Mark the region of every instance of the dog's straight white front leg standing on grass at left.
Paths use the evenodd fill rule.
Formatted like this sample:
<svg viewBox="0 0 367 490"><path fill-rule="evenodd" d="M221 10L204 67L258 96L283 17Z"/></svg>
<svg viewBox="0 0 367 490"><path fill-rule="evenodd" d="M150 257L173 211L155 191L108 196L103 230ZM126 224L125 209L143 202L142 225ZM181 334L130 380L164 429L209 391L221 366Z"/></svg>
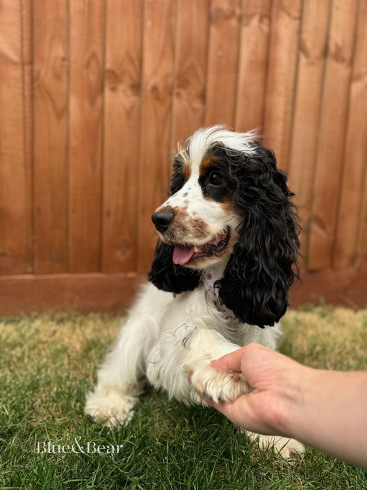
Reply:
<svg viewBox="0 0 367 490"><path fill-rule="evenodd" d="M94 391L87 394L85 414L105 425L129 422L145 385L147 357L158 339L162 312L171 300L171 294L150 283L143 287L116 345L98 370Z"/></svg>

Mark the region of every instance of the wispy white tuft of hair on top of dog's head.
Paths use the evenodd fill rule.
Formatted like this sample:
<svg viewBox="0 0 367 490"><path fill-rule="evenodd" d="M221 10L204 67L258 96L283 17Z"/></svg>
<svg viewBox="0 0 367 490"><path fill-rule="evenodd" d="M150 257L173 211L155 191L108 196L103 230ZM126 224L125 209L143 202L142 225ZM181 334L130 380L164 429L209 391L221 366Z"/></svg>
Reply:
<svg viewBox="0 0 367 490"><path fill-rule="evenodd" d="M256 149L253 145L255 136L255 131L237 133L221 125L203 127L196 131L185 144L185 150L189 154L191 163L191 173L198 174L200 163L204 159L208 148L215 143L222 143L229 150L245 152L249 156L255 155Z"/></svg>

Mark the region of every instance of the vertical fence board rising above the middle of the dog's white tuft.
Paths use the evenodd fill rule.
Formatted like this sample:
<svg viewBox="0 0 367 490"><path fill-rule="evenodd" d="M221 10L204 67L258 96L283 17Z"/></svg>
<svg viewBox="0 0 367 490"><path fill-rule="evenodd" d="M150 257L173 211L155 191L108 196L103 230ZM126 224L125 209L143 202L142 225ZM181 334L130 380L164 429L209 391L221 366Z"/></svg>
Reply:
<svg viewBox="0 0 367 490"><path fill-rule="evenodd" d="M205 125L234 125L240 0L211 0Z"/></svg>

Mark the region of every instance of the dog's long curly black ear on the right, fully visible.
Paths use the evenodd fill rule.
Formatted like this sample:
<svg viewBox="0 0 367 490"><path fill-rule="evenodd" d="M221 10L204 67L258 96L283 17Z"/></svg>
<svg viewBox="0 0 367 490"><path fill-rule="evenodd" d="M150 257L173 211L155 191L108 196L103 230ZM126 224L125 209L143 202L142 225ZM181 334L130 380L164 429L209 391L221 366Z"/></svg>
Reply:
<svg viewBox="0 0 367 490"><path fill-rule="evenodd" d="M288 307L288 290L298 276L300 227L273 152L257 143L254 157L236 158L233 204L243 213L239 241L224 276L220 299L250 325L274 325Z"/></svg>

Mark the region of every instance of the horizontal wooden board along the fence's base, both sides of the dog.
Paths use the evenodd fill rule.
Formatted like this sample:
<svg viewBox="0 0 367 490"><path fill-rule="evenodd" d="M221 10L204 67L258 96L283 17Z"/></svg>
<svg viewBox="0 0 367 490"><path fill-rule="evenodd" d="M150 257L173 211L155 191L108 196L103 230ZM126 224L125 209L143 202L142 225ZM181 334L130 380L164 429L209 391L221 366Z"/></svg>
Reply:
<svg viewBox="0 0 367 490"><path fill-rule="evenodd" d="M320 301L353 308L366 305L366 258L359 267L302 270L301 276L302 281L291 287L292 307ZM121 313L132 305L145 281L145 274L135 272L0 276L0 316L52 311Z"/></svg>

